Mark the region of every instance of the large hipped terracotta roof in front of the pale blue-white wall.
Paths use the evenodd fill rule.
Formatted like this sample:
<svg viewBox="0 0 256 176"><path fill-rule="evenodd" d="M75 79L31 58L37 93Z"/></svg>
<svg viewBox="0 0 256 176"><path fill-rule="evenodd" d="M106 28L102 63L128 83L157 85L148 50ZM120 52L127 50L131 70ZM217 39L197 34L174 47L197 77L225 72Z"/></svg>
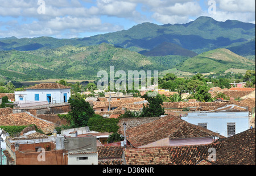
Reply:
<svg viewBox="0 0 256 176"><path fill-rule="evenodd" d="M165 116L159 120L152 121L151 123L127 129L126 136L127 140L134 147L147 145L167 137L170 139L210 136L225 138L224 136L218 135L208 129L190 124L187 121L172 115Z"/></svg>

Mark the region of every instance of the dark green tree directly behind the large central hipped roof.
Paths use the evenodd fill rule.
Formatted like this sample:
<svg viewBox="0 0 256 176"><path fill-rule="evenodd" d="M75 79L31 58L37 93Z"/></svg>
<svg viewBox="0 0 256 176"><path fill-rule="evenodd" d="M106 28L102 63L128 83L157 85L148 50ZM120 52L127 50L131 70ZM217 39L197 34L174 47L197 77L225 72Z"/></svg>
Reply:
<svg viewBox="0 0 256 176"><path fill-rule="evenodd" d="M151 91L148 91L151 92ZM157 94L156 97L148 97L148 92L142 96L142 98L146 99L148 104L142 108L142 117L158 117L160 115L164 115L163 99L160 94Z"/></svg>

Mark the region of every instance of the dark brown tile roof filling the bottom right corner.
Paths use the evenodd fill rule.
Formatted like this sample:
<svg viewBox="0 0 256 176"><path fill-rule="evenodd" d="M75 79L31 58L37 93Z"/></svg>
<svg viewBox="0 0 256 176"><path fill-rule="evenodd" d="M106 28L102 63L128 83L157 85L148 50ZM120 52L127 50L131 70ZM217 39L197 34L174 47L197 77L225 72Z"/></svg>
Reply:
<svg viewBox="0 0 256 176"><path fill-rule="evenodd" d="M217 165L255 165L255 129L247 129L222 141L216 152Z"/></svg>

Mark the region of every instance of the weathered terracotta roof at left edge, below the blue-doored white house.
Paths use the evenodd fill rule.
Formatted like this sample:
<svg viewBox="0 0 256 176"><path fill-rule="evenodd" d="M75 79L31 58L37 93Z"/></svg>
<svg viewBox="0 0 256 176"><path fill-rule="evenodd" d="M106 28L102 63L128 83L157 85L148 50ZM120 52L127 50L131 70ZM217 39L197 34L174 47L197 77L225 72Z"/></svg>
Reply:
<svg viewBox="0 0 256 176"><path fill-rule="evenodd" d="M36 127L42 129L46 134L52 133L55 128L54 123L47 122L39 118L35 118L32 115L27 114L26 112L17 113L17 114L8 114L0 116L0 125L31 125L35 124Z"/></svg>

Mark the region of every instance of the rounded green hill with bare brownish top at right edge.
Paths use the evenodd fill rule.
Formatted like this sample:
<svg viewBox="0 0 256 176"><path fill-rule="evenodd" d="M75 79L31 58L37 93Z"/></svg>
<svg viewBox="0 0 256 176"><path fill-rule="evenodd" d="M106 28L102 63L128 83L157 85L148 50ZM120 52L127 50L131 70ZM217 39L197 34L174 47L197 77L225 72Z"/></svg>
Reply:
<svg viewBox="0 0 256 176"><path fill-rule="evenodd" d="M217 73L230 68L255 70L255 61L236 55L225 48L214 49L188 58L177 66L184 72Z"/></svg>

